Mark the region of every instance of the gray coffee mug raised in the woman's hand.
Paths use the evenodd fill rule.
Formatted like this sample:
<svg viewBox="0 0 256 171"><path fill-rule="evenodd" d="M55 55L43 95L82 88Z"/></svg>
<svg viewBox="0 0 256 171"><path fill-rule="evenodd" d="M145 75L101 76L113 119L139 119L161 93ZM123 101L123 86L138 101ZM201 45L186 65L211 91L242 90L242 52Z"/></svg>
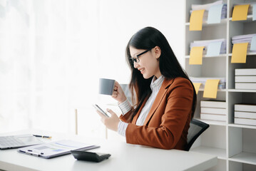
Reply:
<svg viewBox="0 0 256 171"><path fill-rule="evenodd" d="M100 78L98 93L104 95L112 95L115 86L115 80Z"/></svg>

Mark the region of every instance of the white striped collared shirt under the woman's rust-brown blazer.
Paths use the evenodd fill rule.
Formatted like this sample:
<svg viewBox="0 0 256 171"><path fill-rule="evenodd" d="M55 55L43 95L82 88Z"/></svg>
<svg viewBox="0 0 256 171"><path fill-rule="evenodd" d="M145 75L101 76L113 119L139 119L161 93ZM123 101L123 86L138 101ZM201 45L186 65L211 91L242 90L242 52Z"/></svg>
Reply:
<svg viewBox="0 0 256 171"><path fill-rule="evenodd" d="M152 107L152 105L155 101L156 95L158 95L158 92L160 90L160 87L162 86L164 79L165 78L163 76L160 76L158 79L155 79L155 77L152 79L151 84L150 84L152 93L151 93L150 97L148 98L147 102L145 103L143 109L141 110L138 120L136 121L136 125L143 125L143 123L145 122L145 118L147 118L147 116L148 116L150 108ZM132 108L127 99L126 99L126 101L119 104L118 106L122 110L122 115L125 115L126 113L128 113L128 111L130 111L130 108ZM124 123L124 122L120 121L118 123L118 133L120 135L126 136L127 126L128 126L128 123Z"/></svg>

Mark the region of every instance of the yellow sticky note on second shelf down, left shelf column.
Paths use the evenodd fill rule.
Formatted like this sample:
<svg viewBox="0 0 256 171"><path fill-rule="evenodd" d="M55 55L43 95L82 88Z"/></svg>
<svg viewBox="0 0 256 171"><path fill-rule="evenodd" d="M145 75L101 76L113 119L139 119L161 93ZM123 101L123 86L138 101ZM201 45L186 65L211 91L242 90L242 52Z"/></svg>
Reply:
<svg viewBox="0 0 256 171"><path fill-rule="evenodd" d="M190 65L202 65L204 46L196 46L191 48L190 51Z"/></svg>

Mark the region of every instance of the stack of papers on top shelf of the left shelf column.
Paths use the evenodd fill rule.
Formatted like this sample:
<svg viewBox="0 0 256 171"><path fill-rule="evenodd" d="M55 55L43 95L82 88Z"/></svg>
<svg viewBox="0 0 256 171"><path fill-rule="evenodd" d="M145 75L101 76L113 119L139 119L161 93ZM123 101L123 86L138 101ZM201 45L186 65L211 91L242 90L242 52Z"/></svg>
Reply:
<svg viewBox="0 0 256 171"><path fill-rule="evenodd" d="M192 13L192 11L196 11L196 10L201 10L201 9L205 9L205 12L203 14L203 21L208 21L208 12L209 9L212 6L216 6L216 5L220 5L223 4L223 1L215 1L213 3L210 4L192 4L191 6L191 11L190 14ZM221 19L226 19L227 18L227 4L223 4L222 6L222 11L221 11Z"/></svg>

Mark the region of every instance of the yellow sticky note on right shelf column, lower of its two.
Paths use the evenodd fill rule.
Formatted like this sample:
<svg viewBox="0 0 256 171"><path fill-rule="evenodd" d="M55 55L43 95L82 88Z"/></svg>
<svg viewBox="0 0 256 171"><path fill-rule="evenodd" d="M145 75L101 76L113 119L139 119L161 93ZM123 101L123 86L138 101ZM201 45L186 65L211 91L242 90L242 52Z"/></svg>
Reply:
<svg viewBox="0 0 256 171"><path fill-rule="evenodd" d="M232 49L231 63L246 63L248 43L235 43Z"/></svg>

